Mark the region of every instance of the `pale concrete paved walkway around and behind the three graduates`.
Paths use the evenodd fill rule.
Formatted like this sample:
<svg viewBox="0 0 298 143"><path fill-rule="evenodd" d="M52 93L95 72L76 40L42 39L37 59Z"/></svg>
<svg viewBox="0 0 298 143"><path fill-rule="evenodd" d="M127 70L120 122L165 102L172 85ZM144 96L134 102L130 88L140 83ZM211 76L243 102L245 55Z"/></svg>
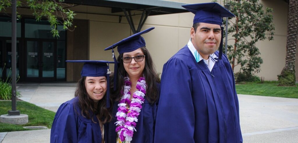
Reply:
<svg viewBox="0 0 298 143"><path fill-rule="evenodd" d="M18 84L21 100L56 112L76 83ZM244 142L298 142L298 99L238 95ZM50 129L0 133L2 143L49 142Z"/></svg>

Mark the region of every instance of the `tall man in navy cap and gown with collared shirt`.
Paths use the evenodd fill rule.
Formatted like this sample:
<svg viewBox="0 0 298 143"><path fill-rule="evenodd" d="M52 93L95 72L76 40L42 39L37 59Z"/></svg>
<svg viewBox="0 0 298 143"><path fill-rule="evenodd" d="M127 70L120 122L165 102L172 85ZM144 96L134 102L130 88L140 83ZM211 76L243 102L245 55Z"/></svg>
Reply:
<svg viewBox="0 0 298 143"><path fill-rule="evenodd" d="M242 142L234 75L222 54L222 17L234 15L217 3L182 7L195 14L191 38L164 64L154 142Z"/></svg>

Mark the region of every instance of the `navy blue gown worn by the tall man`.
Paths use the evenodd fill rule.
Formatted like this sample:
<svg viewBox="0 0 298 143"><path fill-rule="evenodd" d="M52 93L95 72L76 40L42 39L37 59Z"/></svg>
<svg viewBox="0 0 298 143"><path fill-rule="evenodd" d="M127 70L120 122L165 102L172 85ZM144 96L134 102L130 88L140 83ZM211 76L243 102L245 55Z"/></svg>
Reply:
<svg viewBox="0 0 298 143"><path fill-rule="evenodd" d="M233 71L216 60L210 72L186 45L164 64L155 143L242 142Z"/></svg>

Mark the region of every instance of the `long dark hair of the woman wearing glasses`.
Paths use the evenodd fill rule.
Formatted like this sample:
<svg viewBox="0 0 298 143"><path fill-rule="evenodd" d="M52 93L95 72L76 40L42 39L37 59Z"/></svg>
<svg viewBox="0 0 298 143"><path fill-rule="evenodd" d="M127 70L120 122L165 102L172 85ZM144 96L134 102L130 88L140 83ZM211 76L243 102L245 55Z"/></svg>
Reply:
<svg viewBox="0 0 298 143"><path fill-rule="evenodd" d="M145 68L143 71L143 74L145 76L146 79L146 99L148 100L148 102L150 102L151 104L153 104L154 102L156 102L156 100L159 98L157 97L159 95L159 91L158 88L156 86L156 83L160 83L160 79L158 77L158 74L155 70L155 66L153 64L153 60L151 55L149 54L148 50L145 47L141 47L142 52L145 55ZM121 90L123 89L123 85L124 85L124 79L123 77L127 75L127 72L124 69L123 66L123 61L122 61L122 56L123 53L120 54L117 58L117 61L119 61L118 64L118 83L117 83L117 90L112 92L112 98L114 101L119 101L121 98ZM111 76L111 79L113 79L114 76ZM114 81L114 80L111 80ZM113 88L113 83L110 84Z"/></svg>

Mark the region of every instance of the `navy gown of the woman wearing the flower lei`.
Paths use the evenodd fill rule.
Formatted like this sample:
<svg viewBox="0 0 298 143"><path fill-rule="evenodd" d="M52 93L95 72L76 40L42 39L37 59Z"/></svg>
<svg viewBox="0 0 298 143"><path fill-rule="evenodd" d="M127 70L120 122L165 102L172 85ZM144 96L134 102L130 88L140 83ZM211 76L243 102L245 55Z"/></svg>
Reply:
<svg viewBox="0 0 298 143"><path fill-rule="evenodd" d="M156 83L156 86L159 91L160 84ZM157 97L159 97L159 94ZM109 143L116 143L117 139L116 124L114 123L117 121L115 116L118 109L118 103L119 102L114 102L113 105L112 116L114 118L109 124ZM138 122L136 122L136 131L134 131L131 143L153 143L157 106L158 102L150 104L145 98L141 112L138 116Z"/></svg>

